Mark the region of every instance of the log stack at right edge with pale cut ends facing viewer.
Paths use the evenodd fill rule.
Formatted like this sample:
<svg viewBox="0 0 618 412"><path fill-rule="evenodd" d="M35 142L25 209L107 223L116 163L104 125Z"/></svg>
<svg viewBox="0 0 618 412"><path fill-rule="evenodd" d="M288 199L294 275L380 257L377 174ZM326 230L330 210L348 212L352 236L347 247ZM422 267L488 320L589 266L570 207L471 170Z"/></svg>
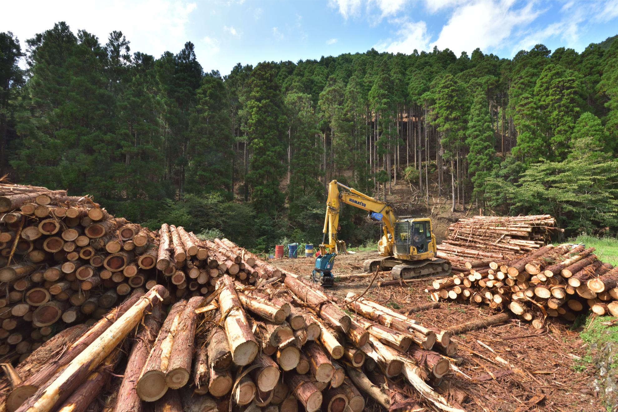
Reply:
<svg viewBox="0 0 618 412"><path fill-rule="evenodd" d="M542 327L546 317L574 321L577 313L618 316L618 268L601 262L595 248L547 245L515 259L468 259L466 272L434 280L433 300L462 300L509 308Z"/></svg>

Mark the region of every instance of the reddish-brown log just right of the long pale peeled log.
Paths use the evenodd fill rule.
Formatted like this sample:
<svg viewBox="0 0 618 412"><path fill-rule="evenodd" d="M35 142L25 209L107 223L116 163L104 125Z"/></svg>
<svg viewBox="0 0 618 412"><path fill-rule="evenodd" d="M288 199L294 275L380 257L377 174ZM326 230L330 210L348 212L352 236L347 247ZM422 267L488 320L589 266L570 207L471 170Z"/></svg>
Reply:
<svg viewBox="0 0 618 412"><path fill-rule="evenodd" d="M122 377L122 384L118 389L117 401L114 412L140 412L142 411L142 400L137 394L137 380L140 377L142 368L150 354L155 339L161 327L161 317L163 311L161 303L153 307L150 314L144 319L142 329L135 336L133 347L127 359L127 367Z"/></svg>

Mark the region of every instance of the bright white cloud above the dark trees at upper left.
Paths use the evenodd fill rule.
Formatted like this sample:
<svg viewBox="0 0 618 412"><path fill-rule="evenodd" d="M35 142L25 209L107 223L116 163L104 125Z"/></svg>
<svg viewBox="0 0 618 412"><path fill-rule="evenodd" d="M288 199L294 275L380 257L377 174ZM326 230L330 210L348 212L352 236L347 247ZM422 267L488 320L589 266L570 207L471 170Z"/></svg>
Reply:
<svg viewBox="0 0 618 412"><path fill-rule="evenodd" d="M36 12L23 14L23 4L6 2L2 5L0 27L19 37L22 49L25 40L36 33L65 21L74 33L84 29L107 43L112 30L120 30L131 42L131 51L161 56L164 51L176 53L190 40L189 17L197 3L177 0L69 0L62 2L33 0L28 9ZM119 12L122 11L122 12ZM19 16L19 17L15 17Z"/></svg>

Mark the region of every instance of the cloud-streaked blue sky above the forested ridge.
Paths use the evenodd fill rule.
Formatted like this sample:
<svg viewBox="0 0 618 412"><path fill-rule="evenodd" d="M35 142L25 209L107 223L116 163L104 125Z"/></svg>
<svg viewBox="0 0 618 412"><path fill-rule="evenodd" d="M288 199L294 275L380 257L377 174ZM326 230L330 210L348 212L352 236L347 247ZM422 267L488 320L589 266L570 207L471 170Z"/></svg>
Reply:
<svg viewBox="0 0 618 412"><path fill-rule="evenodd" d="M319 59L341 53L479 47L512 57L543 43L582 51L618 34L618 1L177 1L7 2L0 30L22 41L65 20L105 43L121 30L132 51L158 57L195 43L205 70L227 74L237 63ZM14 9L14 10L12 10Z"/></svg>

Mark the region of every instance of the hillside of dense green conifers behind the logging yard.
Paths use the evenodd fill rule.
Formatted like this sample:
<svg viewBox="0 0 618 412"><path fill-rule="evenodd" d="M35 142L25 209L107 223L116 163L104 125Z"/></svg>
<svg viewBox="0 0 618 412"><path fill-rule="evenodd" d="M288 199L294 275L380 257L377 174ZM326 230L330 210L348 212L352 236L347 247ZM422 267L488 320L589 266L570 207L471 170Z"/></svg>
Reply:
<svg viewBox="0 0 618 412"><path fill-rule="evenodd" d="M256 250L315 243L326 182L387 198L407 180L426 203L436 182L452 209L618 229L618 40L512 59L371 49L224 75L190 42L155 57L63 22L20 40L0 33L0 174L131 221ZM362 242L371 230L348 217L346 240Z"/></svg>

